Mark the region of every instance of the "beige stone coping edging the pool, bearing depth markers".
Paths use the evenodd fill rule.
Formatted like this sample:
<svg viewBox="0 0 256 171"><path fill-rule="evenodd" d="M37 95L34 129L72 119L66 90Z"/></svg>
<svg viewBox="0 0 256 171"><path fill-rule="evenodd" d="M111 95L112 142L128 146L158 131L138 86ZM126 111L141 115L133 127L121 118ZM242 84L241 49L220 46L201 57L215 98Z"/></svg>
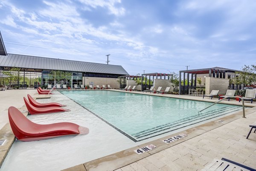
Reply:
<svg viewBox="0 0 256 171"><path fill-rule="evenodd" d="M131 92L126 92L126 93L131 93ZM138 94L141 94L141 93L138 93ZM150 95L150 94L147 94L147 95ZM151 94L151 96L156 96L156 95ZM163 97L163 96L161 96L161 97ZM164 96L164 97L167 97L167 96ZM176 99L181 99L181 98L176 97ZM186 99L186 98L183 98L183 99ZM186 100L190 100L190 99L186 99ZM215 102L215 101L209 101L209 100L197 100L197 101L205 101L205 102L212 102L212 103ZM227 104L227 102L224 101L224 103L221 103L221 104ZM239 104L232 104L232 105L239 105ZM239 105L239 106L241 106L241 105ZM246 105L245 104L245 106L251 107L251 108L245 109L245 111L246 111L245 115L246 116L255 112L255 110L256 110L255 105ZM156 139L156 140L153 140L151 142L144 143L142 145L137 145L135 147L128 148L126 150L119 151L117 153L110 154L110 155L105 156L105 157L101 157L99 159L95 159L95 160L92 160L92 161L89 161L89 162L82 163L80 165L76 165L76 166L73 166L73 167L70 167L70 168L66 168L62 171L114 171L116 169L119 169L119 168L122 168L126 165L129 165L133 162L137 162L138 160L143 159L145 157L148 157L152 154L163 151L167 148L170 148L174 145L185 142L189 139L192 139L195 136L199 136L203 133L207 133L210 130L221 127L223 125L226 125L227 123L233 122L236 119L240 119L241 116L242 116L242 111L236 112L236 113L231 114L229 116L224 116L224 117L221 117L219 119L215 119L212 122L207 122L207 123L198 125L196 127L180 131L178 133L173 133L173 134L170 134L170 135L165 136L163 138ZM219 121L225 121L225 122L219 122ZM184 133L187 136L182 138L182 139L179 139L177 141L174 141L170 144L166 144L165 142L163 142L164 139L169 139L169 138L171 138L173 136L177 136L181 133ZM157 146L157 148L152 150L152 151L148 151L148 152L145 152L143 154L140 154L140 155L138 155L134 152L134 150L137 150L139 148L143 148L143 147L145 147L147 145L151 145L151 144Z"/></svg>

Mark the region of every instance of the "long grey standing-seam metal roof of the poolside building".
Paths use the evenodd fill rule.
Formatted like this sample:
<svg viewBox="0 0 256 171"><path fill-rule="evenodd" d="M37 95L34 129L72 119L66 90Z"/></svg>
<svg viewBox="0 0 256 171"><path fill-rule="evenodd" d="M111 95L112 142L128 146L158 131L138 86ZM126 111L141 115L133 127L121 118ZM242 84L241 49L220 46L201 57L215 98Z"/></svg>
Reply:
<svg viewBox="0 0 256 171"><path fill-rule="evenodd" d="M64 59L44 58L38 56L16 54L8 54L7 56L0 55L0 67L18 67L42 70L63 70L128 75L128 72L126 72L125 69L120 65L70 61Z"/></svg>

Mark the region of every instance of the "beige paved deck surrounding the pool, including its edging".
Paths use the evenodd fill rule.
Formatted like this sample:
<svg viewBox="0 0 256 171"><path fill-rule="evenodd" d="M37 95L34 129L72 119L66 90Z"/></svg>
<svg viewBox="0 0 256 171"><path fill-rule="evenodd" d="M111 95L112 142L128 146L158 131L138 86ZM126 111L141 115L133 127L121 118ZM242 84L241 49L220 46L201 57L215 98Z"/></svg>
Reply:
<svg viewBox="0 0 256 171"><path fill-rule="evenodd" d="M21 107L20 110L23 110L23 112L26 113L26 107L24 108L23 106L23 96L26 96L26 94L33 96L35 93L35 90L7 90L0 92L0 96L2 97L0 99L1 124L7 124L4 128L2 126L3 129L0 130L1 138L3 136L14 137L11 130L7 131L9 133L8 135L4 133L9 126L7 113L9 106L15 106L17 108ZM149 95L150 93L147 94ZM157 94L152 93L150 95L157 96ZM202 96L195 97L171 94L159 94L159 96L210 102L217 101L216 98L212 100L209 98L202 99ZM224 103L241 105L241 102L239 103L234 100L224 101ZM239 112L216 121L199 125L195 128L181 131L180 133L185 133L187 136L175 142L166 144L162 142L162 140L176 136L180 133L175 133L134 148L120 151L107 157L82 163L81 165L67 168L65 171L201 170L204 168L204 165L211 162L214 158L221 159L222 157L256 168L256 163L254 161L256 158L256 133L251 133L249 139L246 139L247 133L250 130L249 125L256 121L256 103L253 102L253 104L251 104L249 101L246 101L245 105L253 107L246 109L246 118L242 118L242 113ZM220 120L222 121L219 122ZM11 144L12 142L10 145ZM157 148L140 155L134 152L134 150L150 144L156 145ZM4 149L0 146L0 154L2 154L3 151Z"/></svg>

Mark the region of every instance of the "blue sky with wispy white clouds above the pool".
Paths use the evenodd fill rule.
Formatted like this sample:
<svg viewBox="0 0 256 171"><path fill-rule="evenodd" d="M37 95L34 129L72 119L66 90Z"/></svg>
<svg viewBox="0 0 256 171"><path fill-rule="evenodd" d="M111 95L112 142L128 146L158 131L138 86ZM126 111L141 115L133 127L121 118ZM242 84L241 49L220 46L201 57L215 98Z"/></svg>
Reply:
<svg viewBox="0 0 256 171"><path fill-rule="evenodd" d="M7 53L121 65L130 75L256 61L255 0L1 0ZM188 67L186 67L188 66Z"/></svg>

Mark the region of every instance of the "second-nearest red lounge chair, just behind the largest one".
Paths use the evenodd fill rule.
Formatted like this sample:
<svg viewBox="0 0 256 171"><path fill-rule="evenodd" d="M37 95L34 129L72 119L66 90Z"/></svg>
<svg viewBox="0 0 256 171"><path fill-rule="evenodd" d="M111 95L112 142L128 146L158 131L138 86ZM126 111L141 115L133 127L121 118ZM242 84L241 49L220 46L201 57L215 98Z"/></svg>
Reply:
<svg viewBox="0 0 256 171"><path fill-rule="evenodd" d="M63 109L61 107L34 107L32 104L29 103L29 101L23 97L26 107L29 110L29 113L31 115L38 115L43 113L55 113L55 112L68 112L69 109Z"/></svg>

